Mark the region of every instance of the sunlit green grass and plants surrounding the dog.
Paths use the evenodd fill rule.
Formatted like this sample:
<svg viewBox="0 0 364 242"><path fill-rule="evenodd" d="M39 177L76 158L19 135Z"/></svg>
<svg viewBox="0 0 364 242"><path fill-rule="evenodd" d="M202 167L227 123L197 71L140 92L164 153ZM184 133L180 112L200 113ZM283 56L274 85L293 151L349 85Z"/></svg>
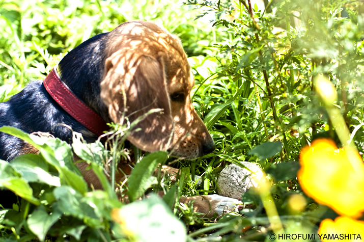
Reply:
<svg viewBox="0 0 364 242"><path fill-rule="evenodd" d="M14 164L0 163L1 186L11 187L25 199L21 207L1 211L4 238L109 241L160 233L190 241L265 240L272 231L316 233L323 219L338 217L305 195L296 176L301 148L317 138L333 139L339 147L350 141L364 152L364 11L360 1L325 0L310 5L301 0L272 1L264 9L250 1L194 0L184 6L162 0L2 1L0 5L4 30L0 34L0 101L8 100L30 80L44 78L67 51L91 36L127 20L150 20L163 23L181 38L196 80L193 106L216 143L214 153L192 162L166 159L165 153L145 156L135 168L140 173L131 175L125 192L136 199L147 190L164 190L164 202L153 197L122 204L101 165L113 155L114 159L125 155L119 146L123 137L113 144L119 147L114 151L123 152L114 153L76 139L73 149L90 154L81 158L104 181L104 191L87 191L67 144L47 140L42 145L39 138L2 128L43 150ZM320 94L318 87L324 80L337 91L333 99L327 99L328 89ZM335 117L342 117L341 122ZM343 126L347 127L344 133ZM127 127L115 129L126 131ZM92 155L96 150L102 159ZM55 159L58 153L63 153L63 163ZM244 160L259 164L269 182L258 192L243 194L242 201L256 207L246 208L243 217L229 214L216 222L200 218L188 205L171 208L176 193L216 193L222 168ZM182 170L178 183L152 178L150 171L158 163L170 162ZM53 183L21 176L21 164L38 176L51 175ZM42 173L36 171L39 167ZM57 182L61 186L55 186ZM293 195L303 198L302 208L292 209ZM123 216L126 212L128 216Z"/></svg>

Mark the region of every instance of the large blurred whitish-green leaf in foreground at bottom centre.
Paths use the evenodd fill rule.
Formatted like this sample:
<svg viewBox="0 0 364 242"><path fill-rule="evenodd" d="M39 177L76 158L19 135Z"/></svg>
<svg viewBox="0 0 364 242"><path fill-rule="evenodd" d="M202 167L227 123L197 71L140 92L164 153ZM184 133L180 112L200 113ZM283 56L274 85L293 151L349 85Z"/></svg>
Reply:
<svg viewBox="0 0 364 242"><path fill-rule="evenodd" d="M118 237L132 241L186 241L185 225L157 195L116 209L112 216L119 222L113 229Z"/></svg>

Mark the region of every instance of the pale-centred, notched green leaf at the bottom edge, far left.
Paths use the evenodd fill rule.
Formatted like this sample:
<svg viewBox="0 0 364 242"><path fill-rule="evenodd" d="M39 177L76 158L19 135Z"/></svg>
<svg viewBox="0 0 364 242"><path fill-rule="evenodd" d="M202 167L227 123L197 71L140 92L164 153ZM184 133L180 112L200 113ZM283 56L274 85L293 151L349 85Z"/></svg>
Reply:
<svg viewBox="0 0 364 242"><path fill-rule="evenodd" d="M61 216L62 211L55 209L51 214L48 214L45 207L40 205L33 211L26 223L29 229L37 235L39 240L44 241L50 227L57 222Z"/></svg>

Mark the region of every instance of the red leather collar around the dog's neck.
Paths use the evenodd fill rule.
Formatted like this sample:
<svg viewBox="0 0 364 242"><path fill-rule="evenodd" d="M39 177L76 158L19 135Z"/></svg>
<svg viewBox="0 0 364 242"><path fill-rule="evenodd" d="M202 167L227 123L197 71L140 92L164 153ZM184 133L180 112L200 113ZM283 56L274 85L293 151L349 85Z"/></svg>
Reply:
<svg viewBox="0 0 364 242"><path fill-rule="evenodd" d="M75 120L95 133L95 135L101 136L103 131L109 130L106 122L78 99L66 84L62 82L56 68L54 67L43 81L45 89L54 101L60 104Z"/></svg>

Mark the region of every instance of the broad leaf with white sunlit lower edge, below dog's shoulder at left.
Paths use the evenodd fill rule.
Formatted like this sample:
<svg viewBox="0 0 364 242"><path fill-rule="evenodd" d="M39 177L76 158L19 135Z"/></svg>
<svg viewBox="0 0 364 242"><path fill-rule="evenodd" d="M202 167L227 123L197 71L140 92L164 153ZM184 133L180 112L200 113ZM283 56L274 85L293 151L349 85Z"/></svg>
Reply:
<svg viewBox="0 0 364 242"><path fill-rule="evenodd" d="M11 166L22 174L27 182L40 182L60 186L60 178L48 173L48 164L43 157L36 154L24 154L14 158Z"/></svg>

